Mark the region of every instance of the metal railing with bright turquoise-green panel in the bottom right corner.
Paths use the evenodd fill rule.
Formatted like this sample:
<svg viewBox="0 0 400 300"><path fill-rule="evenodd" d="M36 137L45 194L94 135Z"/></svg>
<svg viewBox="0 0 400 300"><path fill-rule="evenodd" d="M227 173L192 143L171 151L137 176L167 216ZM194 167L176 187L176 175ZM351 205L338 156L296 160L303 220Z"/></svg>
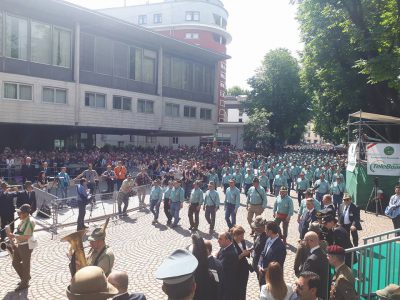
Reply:
<svg viewBox="0 0 400 300"><path fill-rule="evenodd" d="M396 233L400 234L400 229L366 237L364 245L346 250L353 266L358 259L354 271L360 299L374 299L377 289L400 284L400 236Z"/></svg>

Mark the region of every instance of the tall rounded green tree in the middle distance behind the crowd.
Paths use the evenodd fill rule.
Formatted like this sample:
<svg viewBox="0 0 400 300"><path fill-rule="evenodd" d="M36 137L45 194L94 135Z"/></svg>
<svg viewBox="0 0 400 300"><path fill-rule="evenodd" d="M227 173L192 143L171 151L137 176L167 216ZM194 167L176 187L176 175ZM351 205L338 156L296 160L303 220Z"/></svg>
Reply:
<svg viewBox="0 0 400 300"><path fill-rule="evenodd" d="M269 129L275 144L300 141L309 120L309 98L300 86L298 61L287 49L268 52L249 79L251 86L246 111L251 116L265 108L271 113Z"/></svg>

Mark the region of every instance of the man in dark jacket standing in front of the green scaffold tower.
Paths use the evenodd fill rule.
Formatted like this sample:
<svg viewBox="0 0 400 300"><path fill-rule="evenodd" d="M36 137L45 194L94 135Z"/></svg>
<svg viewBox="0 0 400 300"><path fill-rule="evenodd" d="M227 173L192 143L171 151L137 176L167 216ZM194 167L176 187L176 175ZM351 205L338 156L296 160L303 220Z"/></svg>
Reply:
<svg viewBox="0 0 400 300"><path fill-rule="evenodd" d="M360 209L351 202L351 196L347 193L343 195L343 204L339 208L340 224L347 230L353 238L354 247L358 246L358 230L362 230L360 223Z"/></svg>

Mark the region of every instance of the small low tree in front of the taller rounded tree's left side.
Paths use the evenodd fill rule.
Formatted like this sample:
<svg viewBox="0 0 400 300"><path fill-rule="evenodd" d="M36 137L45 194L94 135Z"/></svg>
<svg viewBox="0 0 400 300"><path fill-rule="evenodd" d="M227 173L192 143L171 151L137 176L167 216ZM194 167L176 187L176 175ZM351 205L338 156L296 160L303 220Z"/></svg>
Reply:
<svg viewBox="0 0 400 300"><path fill-rule="evenodd" d="M244 126L243 142L246 150L268 151L271 146L272 134L269 131L271 114L262 108L254 112Z"/></svg>

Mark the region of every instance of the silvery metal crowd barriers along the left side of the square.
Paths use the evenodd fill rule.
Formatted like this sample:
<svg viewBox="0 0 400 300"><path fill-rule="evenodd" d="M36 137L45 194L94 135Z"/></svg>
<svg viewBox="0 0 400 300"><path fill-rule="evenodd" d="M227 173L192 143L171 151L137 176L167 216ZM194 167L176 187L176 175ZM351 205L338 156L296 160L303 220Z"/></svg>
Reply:
<svg viewBox="0 0 400 300"><path fill-rule="evenodd" d="M146 191L146 196L148 196L150 187L151 185L134 187L134 195L131 196L130 199L132 200L132 197L136 197L135 192L137 192L138 189L143 188ZM50 222L46 221L46 219L39 217L37 218L37 220L45 229L49 230L52 233L52 237L58 233L59 228L73 226L77 224L78 213L75 213L75 211L78 209L77 196L57 198L53 194L37 188L35 188L35 193L38 204L38 213L40 212L41 214L51 219ZM85 215L85 223L105 220L108 217L116 218L118 216L117 191L114 191L113 193L97 193L94 196L95 201L92 201L87 205L90 207L90 212L89 214L86 213ZM135 201L129 201L130 208L127 210L127 213L136 211L140 208L139 205L135 205L132 202L135 203ZM50 215L46 213L46 209L44 209L46 208L46 206L50 208Z"/></svg>

